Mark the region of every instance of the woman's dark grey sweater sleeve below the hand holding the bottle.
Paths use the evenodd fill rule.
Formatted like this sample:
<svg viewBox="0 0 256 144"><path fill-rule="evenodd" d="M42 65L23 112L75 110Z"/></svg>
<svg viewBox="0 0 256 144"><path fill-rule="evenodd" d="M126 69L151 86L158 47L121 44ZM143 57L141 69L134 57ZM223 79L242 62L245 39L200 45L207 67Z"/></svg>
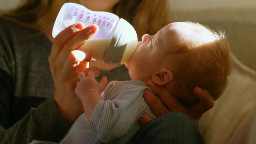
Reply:
<svg viewBox="0 0 256 144"><path fill-rule="evenodd" d="M0 131L0 143L29 143L32 140L59 142L71 127L49 98L31 109L26 116L7 130Z"/></svg>

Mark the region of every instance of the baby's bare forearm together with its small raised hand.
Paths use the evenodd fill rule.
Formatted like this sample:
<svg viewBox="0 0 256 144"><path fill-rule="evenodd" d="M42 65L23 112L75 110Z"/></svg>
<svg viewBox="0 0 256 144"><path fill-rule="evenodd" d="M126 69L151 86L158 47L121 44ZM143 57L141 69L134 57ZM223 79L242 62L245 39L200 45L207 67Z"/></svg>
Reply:
<svg viewBox="0 0 256 144"><path fill-rule="evenodd" d="M92 116L92 112L96 104L102 100L101 93L108 83L107 77L104 76L100 83L95 80L94 72L88 72L87 76L84 72L78 74L80 81L76 84L76 95L82 101L84 112L88 121Z"/></svg>

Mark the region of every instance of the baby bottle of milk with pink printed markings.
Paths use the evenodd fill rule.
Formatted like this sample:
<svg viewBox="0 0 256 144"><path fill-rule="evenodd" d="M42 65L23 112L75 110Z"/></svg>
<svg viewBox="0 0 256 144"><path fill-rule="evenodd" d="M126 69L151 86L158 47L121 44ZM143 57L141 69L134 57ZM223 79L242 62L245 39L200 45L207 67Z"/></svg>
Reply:
<svg viewBox="0 0 256 144"><path fill-rule="evenodd" d="M64 28L82 22L85 27L97 24L98 33L79 50L88 49L92 60L105 64L124 64L132 56L138 38L134 28L124 19L109 12L95 12L76 3L66 3L54 23L52 36Z"/></svg>

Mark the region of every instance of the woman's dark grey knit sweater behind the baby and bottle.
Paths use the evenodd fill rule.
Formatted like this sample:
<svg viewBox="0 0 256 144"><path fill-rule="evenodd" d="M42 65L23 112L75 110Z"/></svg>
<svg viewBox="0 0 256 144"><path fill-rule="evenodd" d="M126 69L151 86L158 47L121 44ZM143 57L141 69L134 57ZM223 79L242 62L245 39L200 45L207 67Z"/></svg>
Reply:
<svg viewBox="0 0 256 144"><path fill-rule="evenodd" d="M0 143L59 142L70 129L52 98L51 47L44 34L0 18ZM104 75L130 80L125 66Z"/></svg>

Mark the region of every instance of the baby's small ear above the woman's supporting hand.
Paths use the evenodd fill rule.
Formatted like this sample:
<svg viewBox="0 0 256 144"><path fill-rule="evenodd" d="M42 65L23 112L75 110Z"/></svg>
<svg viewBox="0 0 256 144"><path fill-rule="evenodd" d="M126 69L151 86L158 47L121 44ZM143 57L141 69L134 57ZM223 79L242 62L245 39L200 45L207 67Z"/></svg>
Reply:
<svg viewBox="0 0 256 144"><path fill-rule="evenodd" d="M163 86L173 80L173 74L170 70L163 68L160 71L154 73L151 80L155 84Z"/></svg>

